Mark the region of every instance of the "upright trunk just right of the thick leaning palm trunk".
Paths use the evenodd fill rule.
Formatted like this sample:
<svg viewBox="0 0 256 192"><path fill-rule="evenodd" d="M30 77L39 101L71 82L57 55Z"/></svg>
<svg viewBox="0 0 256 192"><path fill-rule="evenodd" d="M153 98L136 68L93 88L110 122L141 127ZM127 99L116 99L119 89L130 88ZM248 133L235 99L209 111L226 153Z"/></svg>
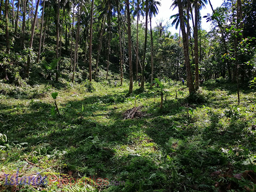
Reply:
<svg viewBox="0 0 256 192"><path fill-rule="evenodd" d="M198 69L198 4L195 0L195 28L194 28L194 38L195 38L195 89L199 89L199 69Z"/></svg>

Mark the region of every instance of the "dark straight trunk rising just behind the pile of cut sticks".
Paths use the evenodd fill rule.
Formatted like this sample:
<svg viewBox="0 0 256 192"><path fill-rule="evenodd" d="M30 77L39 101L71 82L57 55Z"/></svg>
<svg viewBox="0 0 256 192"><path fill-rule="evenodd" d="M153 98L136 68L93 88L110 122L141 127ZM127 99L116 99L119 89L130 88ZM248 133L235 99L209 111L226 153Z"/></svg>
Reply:
<svg viewBox="0 0 256 192"><path fill-rule="evenodd" d="M130 4L129 0L126 0L126 15L127 15L127 32L128 32L128 55L129 55L129 77L130 86L129 94L132 93L133 89L133 75L132 75L132 35L131 35L131 18L130 18Z"/></svg>

